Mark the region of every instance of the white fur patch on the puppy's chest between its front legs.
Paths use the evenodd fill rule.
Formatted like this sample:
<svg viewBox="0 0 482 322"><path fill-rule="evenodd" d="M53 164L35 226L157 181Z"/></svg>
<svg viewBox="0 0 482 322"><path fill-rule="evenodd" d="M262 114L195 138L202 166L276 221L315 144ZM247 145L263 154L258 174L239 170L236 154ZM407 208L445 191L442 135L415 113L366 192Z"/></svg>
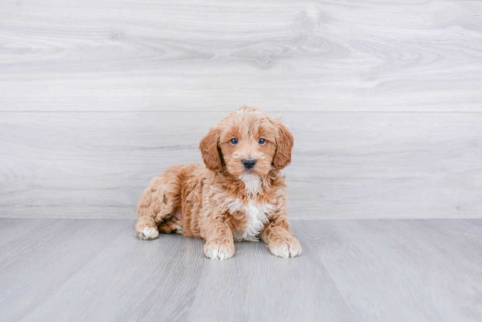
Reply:
<svg viewBox="0 0 482 322"><path fill-rule="evenodd" d="M259 204L254 200L250 200L247 205L243 204L241 200L236 199L229 204L229 213L235 211L243 211L246 226L243 230L236 231L234 240L259 240L259 235L269 221L268 213L274 209L271 204Z"/></svg>

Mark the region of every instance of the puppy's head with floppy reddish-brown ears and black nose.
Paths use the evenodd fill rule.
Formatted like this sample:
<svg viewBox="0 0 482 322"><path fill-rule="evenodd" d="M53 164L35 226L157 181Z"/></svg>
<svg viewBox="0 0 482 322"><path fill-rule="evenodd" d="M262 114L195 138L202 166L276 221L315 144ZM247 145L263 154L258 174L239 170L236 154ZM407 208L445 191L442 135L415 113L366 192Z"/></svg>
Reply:
<svg viewBox="0 0 482 322"><path fill-rule="evenodd" d="M204 164L235 177L266 176L291 162L293 135L279 119L242 106L211 128L199 145Z"/></svg>

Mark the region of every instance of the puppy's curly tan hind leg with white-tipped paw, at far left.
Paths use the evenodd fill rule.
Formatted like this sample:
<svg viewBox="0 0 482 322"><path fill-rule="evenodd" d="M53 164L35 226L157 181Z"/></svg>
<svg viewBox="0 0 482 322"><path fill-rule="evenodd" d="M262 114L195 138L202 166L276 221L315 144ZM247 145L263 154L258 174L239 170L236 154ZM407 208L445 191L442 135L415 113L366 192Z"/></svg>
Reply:
<svg viewBox="0 0 482 322"><path fill-rule="evenodd" d="M151 180L137 205L136 234L141 239L154 239L157 227L171 219L181 206L181 186L175 169L168 169Z"/></svg>

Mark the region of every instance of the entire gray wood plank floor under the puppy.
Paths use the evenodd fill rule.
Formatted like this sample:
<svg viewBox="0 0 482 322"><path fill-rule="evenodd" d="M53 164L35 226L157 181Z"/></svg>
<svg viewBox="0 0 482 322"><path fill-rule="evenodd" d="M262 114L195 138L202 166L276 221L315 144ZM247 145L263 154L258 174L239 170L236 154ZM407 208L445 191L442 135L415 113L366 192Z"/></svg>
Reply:
<svg viewBox="0 0 482 322"><path fill-rule="evenodd" d="M288 260L133 225L0 219L0 321L482 320L479 219L293 221Z"/></svg>

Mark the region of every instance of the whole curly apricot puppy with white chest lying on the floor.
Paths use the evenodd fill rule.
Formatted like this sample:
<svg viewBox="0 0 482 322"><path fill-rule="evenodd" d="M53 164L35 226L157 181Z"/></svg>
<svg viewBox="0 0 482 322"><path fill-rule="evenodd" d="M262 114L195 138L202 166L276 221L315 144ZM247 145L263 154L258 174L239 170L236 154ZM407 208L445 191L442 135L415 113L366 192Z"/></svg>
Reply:
<svg viewBox="0 0 482 322"><path fill-rule="evenodd" d="M280 175L292 147L293 135L279 119L243 105L201 140L206 167L175 165L151 180L137 205L137 235L204 238L210 259L231 258L234 241L260 238L276 256L300 255Z"/></svg>

